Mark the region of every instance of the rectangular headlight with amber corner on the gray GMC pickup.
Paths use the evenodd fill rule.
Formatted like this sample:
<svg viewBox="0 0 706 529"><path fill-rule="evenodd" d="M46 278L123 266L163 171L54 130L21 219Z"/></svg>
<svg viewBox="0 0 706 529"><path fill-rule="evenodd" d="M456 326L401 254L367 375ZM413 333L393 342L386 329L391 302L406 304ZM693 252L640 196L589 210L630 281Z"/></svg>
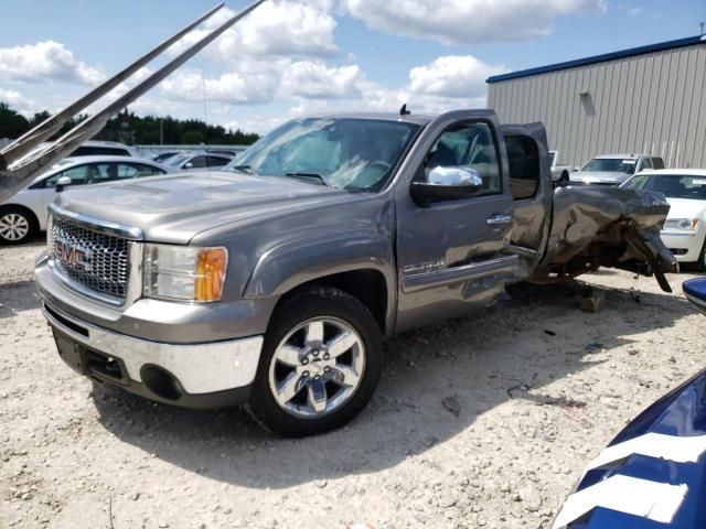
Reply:
<svg viewBox="0 0 706 529"><path fill-rule="evenodd" d="M225 248L146 245L145 295L197 303L221 301L227 263Z"/></svg>

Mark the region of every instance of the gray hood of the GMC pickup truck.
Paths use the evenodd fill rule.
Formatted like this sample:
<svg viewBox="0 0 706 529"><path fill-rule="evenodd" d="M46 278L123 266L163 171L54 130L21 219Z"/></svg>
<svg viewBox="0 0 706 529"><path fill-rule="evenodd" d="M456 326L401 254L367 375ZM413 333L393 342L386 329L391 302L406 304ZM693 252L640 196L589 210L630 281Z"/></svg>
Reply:
<svg viewBox="0 0 706 529"><path fill-rule="evenodd" d="M75 187L55 202L73 213L140 228L147 240L184 245L211 228L351 195L295 179L204 172Z"/></svg>

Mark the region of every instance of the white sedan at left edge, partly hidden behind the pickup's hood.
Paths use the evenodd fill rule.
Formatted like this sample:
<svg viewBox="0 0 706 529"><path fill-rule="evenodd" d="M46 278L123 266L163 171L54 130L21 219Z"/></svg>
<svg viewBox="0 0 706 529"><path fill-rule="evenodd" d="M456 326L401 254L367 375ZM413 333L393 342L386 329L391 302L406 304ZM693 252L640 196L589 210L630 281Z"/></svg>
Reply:
<svg viewBox="0 0 706 529"><path fill-rule="evenodd" d="M46 229L46 208L56 193L75 185L156 176L174 169L139 158L67 158L0 204L0 244L17 245Z"/></svg>

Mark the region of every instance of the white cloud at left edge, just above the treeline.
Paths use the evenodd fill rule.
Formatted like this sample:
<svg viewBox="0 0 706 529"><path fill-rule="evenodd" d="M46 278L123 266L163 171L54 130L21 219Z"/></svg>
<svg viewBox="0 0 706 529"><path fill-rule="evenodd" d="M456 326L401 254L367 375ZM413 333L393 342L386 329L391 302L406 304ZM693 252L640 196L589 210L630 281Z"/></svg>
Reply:
<svg viewBox="0 0 706 529"><path fill-rule="evenodd" d="M64 44L43 41L0 48L0 77L26 83L54 79L96 85L103 79L103 74L77 61Z"/></svg>

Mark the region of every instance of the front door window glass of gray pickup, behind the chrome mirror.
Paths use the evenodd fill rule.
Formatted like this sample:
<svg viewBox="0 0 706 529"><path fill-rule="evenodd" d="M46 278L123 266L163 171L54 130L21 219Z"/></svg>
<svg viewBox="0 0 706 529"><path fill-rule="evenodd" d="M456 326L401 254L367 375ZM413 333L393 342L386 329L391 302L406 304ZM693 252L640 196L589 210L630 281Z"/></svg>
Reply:
<svg viewBox="0 0 706 529"><path fill-rule="evenodd" d="M480 195L502 193L498 150L491 127L484 122L453 126L443 132L425 160L425 177L436 168L466 168L483 181Z"/></svg>

